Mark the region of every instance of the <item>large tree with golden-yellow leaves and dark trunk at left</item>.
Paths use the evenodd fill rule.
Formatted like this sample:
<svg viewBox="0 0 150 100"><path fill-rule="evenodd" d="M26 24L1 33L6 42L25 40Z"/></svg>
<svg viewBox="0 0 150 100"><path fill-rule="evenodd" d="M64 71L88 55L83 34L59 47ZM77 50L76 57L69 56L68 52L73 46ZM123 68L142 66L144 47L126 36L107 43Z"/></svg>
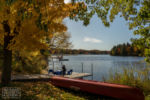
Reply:
<svg viewBox="0 0 150 100"><path fill-rule="evenodd" d="M4 85L9 84L11 80L13 53L48 49L47 39L54 33L67 30L62 21L75 8L76 5L65 4L64 0L0 1L0 44L4 51Z"/></svg>

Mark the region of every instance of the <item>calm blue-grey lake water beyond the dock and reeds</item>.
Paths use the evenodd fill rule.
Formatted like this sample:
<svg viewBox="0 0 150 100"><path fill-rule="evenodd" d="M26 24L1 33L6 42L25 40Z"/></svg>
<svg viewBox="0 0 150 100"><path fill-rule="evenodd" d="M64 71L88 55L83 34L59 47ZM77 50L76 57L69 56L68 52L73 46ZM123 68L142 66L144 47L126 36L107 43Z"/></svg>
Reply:
<svg viewBox="0 0 150 100"><path fill-rule="evenodd" d="M115 71L121 72L124 67L131 68L136 66L137 68L145 67L143 57L121 57L110 55L68 55L64 56L64 59L69 61L63 61L62 64L66 65L67 70L73 69L74 72L91 73L91 66L93 66L93 78L91 76L85 77L88 80L102 81L103 77L106 79L109 77L109 73ZM61 69L61 63L55 61L55 70ZM49 63L50 68L52 64Z"/></svg>

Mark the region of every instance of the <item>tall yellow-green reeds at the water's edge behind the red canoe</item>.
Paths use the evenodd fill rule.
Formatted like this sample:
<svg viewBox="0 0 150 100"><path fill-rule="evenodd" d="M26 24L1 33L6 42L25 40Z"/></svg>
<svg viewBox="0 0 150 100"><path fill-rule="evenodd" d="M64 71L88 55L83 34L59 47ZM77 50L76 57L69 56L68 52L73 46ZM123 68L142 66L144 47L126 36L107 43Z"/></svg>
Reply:
<svg viewBox="0 0 150 100"><path fill-rule="evenodd" d="M145 95L145 100L150 100L150 65L139 68L124 67L122 72L110 73L107 82L140 88Z"/></svg>

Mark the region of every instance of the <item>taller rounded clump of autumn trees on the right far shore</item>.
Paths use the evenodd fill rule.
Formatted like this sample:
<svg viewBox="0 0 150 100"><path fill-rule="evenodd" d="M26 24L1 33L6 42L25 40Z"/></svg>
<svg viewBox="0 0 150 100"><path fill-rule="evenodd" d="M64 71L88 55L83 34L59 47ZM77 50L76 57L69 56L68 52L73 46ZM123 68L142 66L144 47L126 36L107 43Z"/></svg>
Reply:
<svg viewBox="0 0 150 100"><path fill-rule="evenodd" d="M143 56L144 50L138 49L138 47L134 46L133 44L124 43L114 46L111 51L110 55L112 56Z"/></svg>

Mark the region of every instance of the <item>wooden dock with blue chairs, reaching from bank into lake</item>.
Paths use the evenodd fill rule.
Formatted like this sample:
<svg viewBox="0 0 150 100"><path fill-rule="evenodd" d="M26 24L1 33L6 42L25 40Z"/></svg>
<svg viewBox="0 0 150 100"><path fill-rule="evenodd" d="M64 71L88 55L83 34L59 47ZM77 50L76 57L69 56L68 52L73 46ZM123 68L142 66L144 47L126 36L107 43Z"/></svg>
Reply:
<svg viewBox="0 0 150 100"><path fill-rule="evenodd" d="M52 74L32 74L32 75L12 75L12 81L50 81ZM58 75L57 75L58 76ZM61 75L60 75L61 76ZM91 76L90 73L73 72L71 75L65 75L66 78L83 78Z"/></svg>

